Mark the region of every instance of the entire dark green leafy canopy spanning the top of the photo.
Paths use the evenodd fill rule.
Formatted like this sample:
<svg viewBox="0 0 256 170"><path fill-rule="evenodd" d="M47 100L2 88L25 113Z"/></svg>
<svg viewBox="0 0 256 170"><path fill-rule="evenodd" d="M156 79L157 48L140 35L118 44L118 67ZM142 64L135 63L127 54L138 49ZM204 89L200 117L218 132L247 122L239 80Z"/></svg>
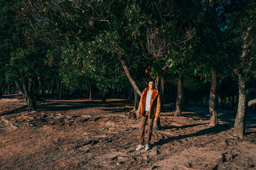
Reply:
<svg viewBox="0 0 256 170"><path fill-rule="evenodd" d="M189 90L198 90L211 69L225 78L241 66L246 36L244 69L255 71L253 1L0 2L0 72L8 81L60 77L70 90L90 83L120 90L129 84L124 59L140 87L148 75L182 76Z"/></svg>

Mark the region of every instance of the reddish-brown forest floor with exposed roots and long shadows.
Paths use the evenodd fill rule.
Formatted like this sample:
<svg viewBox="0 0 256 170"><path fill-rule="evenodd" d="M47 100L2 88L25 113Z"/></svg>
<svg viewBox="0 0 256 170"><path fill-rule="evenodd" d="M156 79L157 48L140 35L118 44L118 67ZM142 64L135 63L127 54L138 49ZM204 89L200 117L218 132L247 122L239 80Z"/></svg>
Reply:
<svg viewBox="0 0 256 170"><path fill-rule="evenodd" d="M37 104L28 111L22 100L0 100L0 169L256 169L256 113L238 139L234 111L218 110L220 125L210 127L207 108L191 105L173 117L166 104L152 148L137 152L140 118L129 118L127 101Z"/></svg>

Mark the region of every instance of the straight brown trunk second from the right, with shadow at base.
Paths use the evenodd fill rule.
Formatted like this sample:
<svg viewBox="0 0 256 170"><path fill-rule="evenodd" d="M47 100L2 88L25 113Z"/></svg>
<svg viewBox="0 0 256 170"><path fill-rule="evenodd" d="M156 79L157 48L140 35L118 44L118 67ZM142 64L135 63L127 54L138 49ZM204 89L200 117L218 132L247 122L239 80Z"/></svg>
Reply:
<svg viewBox="0 0 256 170"><path fill-rule="evenodd" d="M217 87L217 74L214 69L212 69L212 81L210 90L210 100L209 100L209 111L210 111L210 125L218 125L218 116L216 111L216 87Z"/></svg>

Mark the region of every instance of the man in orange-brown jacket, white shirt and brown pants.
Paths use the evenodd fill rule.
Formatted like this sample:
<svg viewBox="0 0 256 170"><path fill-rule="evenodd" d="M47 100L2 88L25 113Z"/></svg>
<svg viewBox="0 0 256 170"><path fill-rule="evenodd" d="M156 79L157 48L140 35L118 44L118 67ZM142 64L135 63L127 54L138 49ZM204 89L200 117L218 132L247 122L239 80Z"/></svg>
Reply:
<svg viewBox="0 0 256 170"><path fill-rule="evenodd" d="M150 139L152 136L153 123L157 122L160 117L160 96L158 90L154 89L154 82L149 81L148 87L143 90L141 94L140 104L137 110L137 117L141 116L141 127L140 127L140 145L136 148L137 151L143 149L150 149ZM144 134L145 126L148 120L148 135L146 146L144 146Z"/></svg>

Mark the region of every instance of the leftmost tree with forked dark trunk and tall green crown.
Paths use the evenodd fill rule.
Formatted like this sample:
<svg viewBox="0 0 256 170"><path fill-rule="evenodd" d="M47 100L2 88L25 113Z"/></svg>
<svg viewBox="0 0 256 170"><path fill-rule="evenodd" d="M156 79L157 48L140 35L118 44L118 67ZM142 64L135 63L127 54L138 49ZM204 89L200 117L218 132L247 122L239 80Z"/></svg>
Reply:
<svg viewBox="0 0 256 170"><path fill-rule="evenodd" d="M45 46L38 41L36 34L29 32L26 11L20 10L20 1L5 4L12 13L8 15L11 22L11 34L6 31L6 64L5 76L8 82L13 81L22 92L29 110L36 109L35 94L40 90L40 78L47 71L44 65ZM6 25L4 26L6 27ZM7 29L7 28L6 28ZM10 34L9 34L10 33Z"/></svg>

